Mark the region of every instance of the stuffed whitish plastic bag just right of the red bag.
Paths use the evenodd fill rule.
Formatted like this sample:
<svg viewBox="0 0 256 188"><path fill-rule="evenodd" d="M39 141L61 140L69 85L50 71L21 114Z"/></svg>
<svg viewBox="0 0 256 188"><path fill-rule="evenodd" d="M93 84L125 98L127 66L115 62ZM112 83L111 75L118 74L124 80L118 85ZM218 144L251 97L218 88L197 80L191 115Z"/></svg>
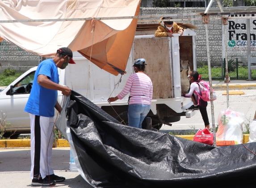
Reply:
<svg viewBox="0 0 256 188"><path fill-rule="evenodd" d="M243 122L244 115L240 112L230 108L220 112L216 140L235 141L235 144L243 143Z"/></svg>

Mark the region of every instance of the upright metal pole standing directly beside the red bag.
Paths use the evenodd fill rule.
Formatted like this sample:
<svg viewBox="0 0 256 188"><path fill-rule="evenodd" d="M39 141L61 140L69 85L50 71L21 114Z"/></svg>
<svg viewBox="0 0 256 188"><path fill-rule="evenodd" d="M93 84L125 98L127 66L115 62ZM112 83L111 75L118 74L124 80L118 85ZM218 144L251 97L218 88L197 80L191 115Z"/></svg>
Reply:
<svg viewBox="0 0 256 188"><path fill-rule="evenodd" d="M214 147L216 147L214 104L213 104L213 91L212 91L212 76L211 76L208 24L205 24L205 28L206 28L206 50L207 50L207 62L208 62L208 72L209 72L209 84L210 84L210 99L211 99L211 112L212 112L212 128L213 128L213 135L214 135Z"/></svg>

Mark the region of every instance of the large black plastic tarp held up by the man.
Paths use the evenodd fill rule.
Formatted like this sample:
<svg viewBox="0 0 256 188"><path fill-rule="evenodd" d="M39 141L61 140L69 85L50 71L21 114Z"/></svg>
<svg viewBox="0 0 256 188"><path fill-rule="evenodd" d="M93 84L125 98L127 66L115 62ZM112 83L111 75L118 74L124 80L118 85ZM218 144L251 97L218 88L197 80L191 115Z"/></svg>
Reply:
<svg viewBox="0 0 256 188"><path fill-rule="evenodd" d="M94 187L256 187L256 143L214 148L132 128L76 92L67 105L67 126Z"/></svg>

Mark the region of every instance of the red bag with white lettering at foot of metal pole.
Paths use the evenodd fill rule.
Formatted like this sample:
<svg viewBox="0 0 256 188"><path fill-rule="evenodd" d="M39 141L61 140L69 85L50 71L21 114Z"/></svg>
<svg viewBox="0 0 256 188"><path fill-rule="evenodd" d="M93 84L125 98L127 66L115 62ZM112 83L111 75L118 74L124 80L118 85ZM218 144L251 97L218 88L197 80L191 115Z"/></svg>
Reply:
<svg viewBox="0 0 256 188"><path fill-rule="evenodd" d="M193 137L193 141L213 145L213 133L208 128L199 129Z"/></svg>

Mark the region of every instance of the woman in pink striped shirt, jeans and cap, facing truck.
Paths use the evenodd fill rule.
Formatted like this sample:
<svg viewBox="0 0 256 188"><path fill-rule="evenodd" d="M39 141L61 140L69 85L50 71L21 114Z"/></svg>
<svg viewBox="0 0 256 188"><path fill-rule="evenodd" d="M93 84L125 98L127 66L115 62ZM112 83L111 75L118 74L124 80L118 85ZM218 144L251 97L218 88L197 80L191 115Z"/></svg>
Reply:
<svg viewBox="0 0 256 188"><path fill-rule="evenodd" d="M124 98L129 92L128 123L131 127L141 128L144 118L150 111L153 95L151 79L144 73L146 60L137 59L134 62L134 74L130 75L125 87L118 96L110 97L108 102Z"/></svg>

